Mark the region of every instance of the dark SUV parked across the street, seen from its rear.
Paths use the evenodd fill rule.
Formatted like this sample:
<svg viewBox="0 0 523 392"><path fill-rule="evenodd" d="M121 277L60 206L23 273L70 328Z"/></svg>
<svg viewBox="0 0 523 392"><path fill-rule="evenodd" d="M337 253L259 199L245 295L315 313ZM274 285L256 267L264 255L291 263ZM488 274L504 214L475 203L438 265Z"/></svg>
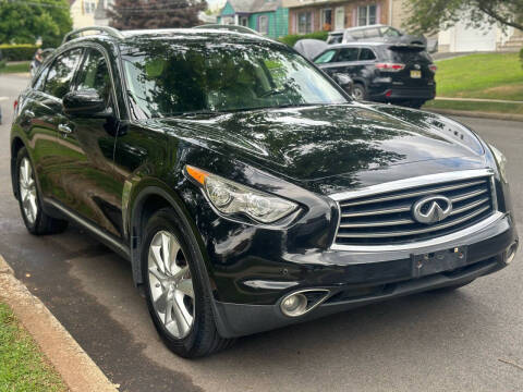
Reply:
<svg viewBox="0 0 523 392"><path fill-rule="evenodd" d="M421 108L436 96L437 66L423 47L354 42L332 45L314 62L329 75L346 74L358 100Z"/></svg>

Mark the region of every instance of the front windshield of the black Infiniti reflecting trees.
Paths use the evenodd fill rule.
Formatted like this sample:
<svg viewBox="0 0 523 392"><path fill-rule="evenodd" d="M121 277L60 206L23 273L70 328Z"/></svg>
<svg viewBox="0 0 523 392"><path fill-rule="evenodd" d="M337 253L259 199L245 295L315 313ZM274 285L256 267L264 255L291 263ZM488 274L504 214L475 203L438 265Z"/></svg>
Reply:
<svg viewBox="0 0 523 392"><path fill-rule="evenodd" d="M123 56L139 118L346 102L301 56L267 44L148 41Z"/></svg>

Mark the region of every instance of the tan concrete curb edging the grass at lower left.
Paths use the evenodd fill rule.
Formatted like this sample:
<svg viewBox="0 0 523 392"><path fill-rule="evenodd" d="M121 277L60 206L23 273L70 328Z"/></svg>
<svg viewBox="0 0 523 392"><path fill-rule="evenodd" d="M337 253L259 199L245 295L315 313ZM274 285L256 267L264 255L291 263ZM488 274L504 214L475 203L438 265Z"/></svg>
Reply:
<svg viewBox="0 0 523 392"><path fill-rule="evenodd" d="M73 392L117 392L100 368L0 256L0 298L14 311Z"/></svg>

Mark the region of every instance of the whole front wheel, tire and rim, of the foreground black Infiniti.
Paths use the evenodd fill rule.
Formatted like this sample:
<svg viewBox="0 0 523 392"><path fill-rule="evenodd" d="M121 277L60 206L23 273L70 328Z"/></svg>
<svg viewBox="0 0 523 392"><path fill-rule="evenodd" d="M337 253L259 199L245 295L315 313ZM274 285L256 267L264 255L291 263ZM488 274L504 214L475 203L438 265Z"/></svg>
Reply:
<svg viewBox="0 0 523 392"><path fill-rule="evenodd" d="M232 340L221 338L216 329L207 272L193 234L172 208L154 213L144 234L144 291L163 343L184 358L207 356L228 347ZM170 260L168 269L165 259Z"/></svg>

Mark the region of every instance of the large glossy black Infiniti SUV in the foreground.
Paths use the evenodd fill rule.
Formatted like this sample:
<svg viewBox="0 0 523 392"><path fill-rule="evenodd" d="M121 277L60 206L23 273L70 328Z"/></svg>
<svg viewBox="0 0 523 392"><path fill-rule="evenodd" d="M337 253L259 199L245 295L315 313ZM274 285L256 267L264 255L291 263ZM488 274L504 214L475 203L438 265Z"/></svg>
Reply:
<svg viewBox="0 0 523 392"><path fill-rule="evenodd" d="M504 158L463 125L352 101L260 36L101 33L17 99L14 194L31 233L71 220L127 258L179 355L513 259Z"/></svg>

